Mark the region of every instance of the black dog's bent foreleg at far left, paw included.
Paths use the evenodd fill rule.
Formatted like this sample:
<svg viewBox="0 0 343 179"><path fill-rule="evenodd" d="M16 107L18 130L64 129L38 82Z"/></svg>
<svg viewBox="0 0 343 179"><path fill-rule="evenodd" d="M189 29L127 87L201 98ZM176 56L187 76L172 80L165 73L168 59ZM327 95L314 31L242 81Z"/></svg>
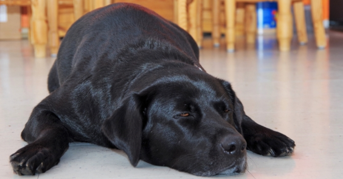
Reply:
<svg viewBox="0 0 343 179"><path fill-rule="evenodd" d="M18 175L44 173L58 164L69 146L68 131L60 119L38 106L26 123L22 138L29 144L10 156L13 170Z"/></svg>

